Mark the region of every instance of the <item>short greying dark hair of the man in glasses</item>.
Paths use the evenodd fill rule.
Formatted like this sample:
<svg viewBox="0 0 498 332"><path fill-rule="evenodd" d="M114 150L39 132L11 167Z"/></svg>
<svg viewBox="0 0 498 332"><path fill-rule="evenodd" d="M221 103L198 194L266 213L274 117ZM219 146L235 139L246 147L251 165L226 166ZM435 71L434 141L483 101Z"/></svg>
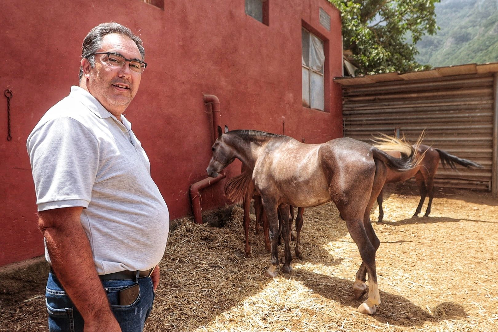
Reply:
<svg viewBox="0 0 498 332"><path fill-rule="evenodd" d="M83 45L81 46L81 58L87 58L90 61L92 68L95 66L95 56L92 53L97 52L102 47L102 39L104 36L111 33L119 33L133 40L138 47L138 51L142 56L142 60L145 58L145 50L143 49L143 43L140 37L136 36L131 32L130 29L116 22L101 23L94 27L87 34L83 40ZM80 66L79 80L83 77L83 67Z"/></svg>

